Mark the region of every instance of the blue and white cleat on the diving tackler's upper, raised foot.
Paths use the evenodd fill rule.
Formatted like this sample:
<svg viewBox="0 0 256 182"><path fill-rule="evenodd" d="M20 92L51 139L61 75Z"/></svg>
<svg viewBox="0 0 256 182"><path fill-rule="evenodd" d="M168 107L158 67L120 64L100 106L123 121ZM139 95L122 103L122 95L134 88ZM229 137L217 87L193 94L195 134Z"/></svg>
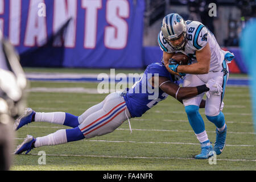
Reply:
<svg viewBox="0 0 256 182"><path fill-rule="evenodd" d="M27 125L28 123L31 123L33 114L35 114L34 110L32 110L31 108L26 108L24 113L15 120L13 129L16 131L20 127Z"/></svg>

